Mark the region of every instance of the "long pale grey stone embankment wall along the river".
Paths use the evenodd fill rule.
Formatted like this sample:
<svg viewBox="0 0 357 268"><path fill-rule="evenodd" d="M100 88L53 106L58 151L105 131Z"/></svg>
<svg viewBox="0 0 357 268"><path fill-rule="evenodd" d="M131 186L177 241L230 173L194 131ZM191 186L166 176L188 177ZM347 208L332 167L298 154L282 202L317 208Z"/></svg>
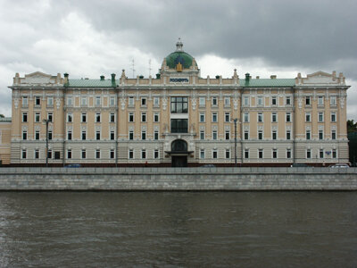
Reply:
<svg viewBox="0 0 357 268"><path fill-rule="evenodd" d="M357 190L357 168L0 168L0 190Z"/></svg>

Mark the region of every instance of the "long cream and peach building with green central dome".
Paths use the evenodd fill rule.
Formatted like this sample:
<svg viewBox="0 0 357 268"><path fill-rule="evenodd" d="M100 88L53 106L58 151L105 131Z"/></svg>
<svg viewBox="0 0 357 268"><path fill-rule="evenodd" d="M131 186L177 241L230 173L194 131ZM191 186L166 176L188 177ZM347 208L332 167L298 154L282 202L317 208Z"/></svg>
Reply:
<svg viewBox="0 0 357 268"><path fill-rule="evenodd" d="M3 163L43 165L47 148L48 164L58 166L348 162L342 73L261 79L232 72L202 78L179 41L154 78L128 79L124 70L109 79L16 73Z"/></svg>

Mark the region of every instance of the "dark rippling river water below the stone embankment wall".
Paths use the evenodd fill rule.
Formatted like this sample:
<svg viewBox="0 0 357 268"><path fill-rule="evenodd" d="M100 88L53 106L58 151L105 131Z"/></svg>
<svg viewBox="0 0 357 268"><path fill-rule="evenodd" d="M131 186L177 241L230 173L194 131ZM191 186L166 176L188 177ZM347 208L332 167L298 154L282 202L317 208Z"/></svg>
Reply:
<svg viewBox="0 0 357 268"><path fill-rule="evenodd" d="M357 267L356 192L0 192L1 267Z"/></svg>

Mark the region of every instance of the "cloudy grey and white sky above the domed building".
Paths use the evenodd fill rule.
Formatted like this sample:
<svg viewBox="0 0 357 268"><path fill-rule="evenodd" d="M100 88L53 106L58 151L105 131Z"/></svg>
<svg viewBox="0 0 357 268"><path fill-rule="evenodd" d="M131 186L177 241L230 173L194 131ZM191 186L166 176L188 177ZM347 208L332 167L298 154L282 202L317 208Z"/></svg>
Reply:
<svg viewBox="0 0 357 268"><path fill-rule="evenodd" d="M178 38L203 77L342 71L357 121L357 1L0 0L0 113L15 72L98 79L158 71Z"/></svg>

